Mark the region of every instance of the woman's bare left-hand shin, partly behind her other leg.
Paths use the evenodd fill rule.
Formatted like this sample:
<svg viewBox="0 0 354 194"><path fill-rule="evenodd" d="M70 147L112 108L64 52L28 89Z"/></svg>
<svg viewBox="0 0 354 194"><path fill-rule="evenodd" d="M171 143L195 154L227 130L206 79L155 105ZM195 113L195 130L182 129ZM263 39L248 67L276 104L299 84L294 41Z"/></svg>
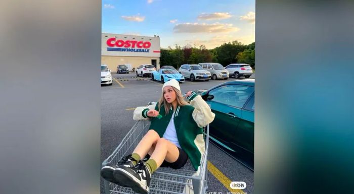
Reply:
<svg viewBox="0 0 354 194"><path fill-rule="evenodd" d="M151 147L155 145L159 139L160 136L157 132L149 130L132 153L137 153L141 158L144 158L150 151Z"/></svg>

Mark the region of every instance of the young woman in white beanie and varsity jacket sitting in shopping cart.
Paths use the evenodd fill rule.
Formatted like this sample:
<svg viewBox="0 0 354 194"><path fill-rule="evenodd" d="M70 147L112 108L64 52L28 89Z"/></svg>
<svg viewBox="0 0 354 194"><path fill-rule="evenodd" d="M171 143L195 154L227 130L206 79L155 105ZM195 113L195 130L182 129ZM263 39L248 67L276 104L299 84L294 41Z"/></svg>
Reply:
<svg viewBox="0 0 354 194"><path fill-rule="evenodd" d="M101 175L108 181L148 193L151 174L159 167L182 168L189 158L195 170L205 152L203 129L215 114L209 105L194 92L182 96L179 82L172 79L162 86L160 100L147 107L137 107L134 120L146 119L151 124L148 133L132 154L123 157L118 165L104 166ZM150 156L149 160L141 159Z"/></svg>

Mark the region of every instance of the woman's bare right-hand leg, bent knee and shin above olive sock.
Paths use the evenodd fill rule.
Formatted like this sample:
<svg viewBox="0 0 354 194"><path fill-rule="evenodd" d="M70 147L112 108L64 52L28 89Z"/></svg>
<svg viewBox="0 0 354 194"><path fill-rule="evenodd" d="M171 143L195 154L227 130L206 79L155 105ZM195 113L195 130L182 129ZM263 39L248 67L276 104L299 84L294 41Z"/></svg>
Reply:
<svg viewBox="0 0 354 194"><path fill-rule="evenodd" d="M158 168L161 166L164 160L170 163L175 162L179 155L180 151L178 150L177 146L164 138L160 138L156 142L155 149L150 159L155 160Z"/></svg>

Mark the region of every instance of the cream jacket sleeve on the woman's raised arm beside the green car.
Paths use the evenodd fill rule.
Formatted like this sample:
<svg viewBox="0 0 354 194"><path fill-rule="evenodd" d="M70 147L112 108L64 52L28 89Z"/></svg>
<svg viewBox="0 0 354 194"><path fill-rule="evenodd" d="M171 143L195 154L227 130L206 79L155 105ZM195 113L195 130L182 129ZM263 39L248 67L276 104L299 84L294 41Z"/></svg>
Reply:
<svg viewBox="0 0 354 194"><path fill-rule="evenodd" d="M197 95L193 92L192 95L187 99L195 108L193 110L192 116L199 127L204 127L214 120L215 114L211 112L209 105L202 99L200 95Z"/></svg>

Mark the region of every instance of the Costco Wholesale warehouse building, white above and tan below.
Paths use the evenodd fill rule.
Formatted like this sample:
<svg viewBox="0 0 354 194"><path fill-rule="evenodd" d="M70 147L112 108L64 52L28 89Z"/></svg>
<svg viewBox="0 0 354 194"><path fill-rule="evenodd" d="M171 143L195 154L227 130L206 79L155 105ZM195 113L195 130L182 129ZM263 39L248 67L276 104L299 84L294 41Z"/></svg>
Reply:
<svg viewBox="0 0 354 194"><path fill-rule="evenodd" d="M160 37L102 33L101 64L115 72L118 64L141 64L160 68Z"/></svg>

